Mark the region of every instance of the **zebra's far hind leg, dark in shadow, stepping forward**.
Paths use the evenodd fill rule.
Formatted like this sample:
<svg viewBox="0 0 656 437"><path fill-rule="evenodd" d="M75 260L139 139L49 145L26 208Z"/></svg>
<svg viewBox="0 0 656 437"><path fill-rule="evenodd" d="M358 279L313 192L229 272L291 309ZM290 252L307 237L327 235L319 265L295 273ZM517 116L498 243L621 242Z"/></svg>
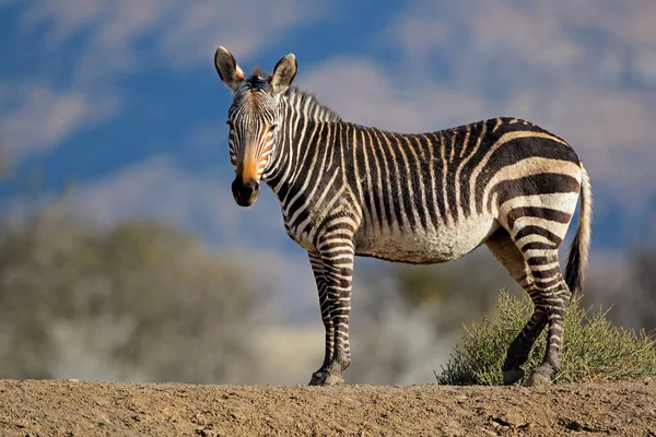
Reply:
<svg viewBox="0 0 656 437"><path fill-rule="evenodd" d="M528 293L535 307L531 318L511 343L502 367L503 382L509 386L524 378L522 366L528 359L536 339L547 324L547 310L541 300L541 294L535 287L529 264L511 238L508 232L500 228L488 238L485 244L494 258L511 273L522 288Z"/></svg>

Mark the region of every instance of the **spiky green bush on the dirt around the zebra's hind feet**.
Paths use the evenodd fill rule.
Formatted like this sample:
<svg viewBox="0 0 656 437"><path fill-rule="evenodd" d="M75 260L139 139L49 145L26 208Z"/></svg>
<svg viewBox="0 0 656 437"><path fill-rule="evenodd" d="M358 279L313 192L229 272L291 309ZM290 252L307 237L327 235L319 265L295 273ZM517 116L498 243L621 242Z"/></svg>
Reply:
<svg viewBox="0 0 656 437"><path fill-rule="evenodd" d="M565 315L563 364L557 382L610 381L637 379L656 375L654 335L644 330L613 326L609 310L590 315L582 308L581 298L572 299ZM437 383L452 386L501 386L501 366L508 345L532 314L528 296L516 298L502 291L497 317L484 317L480 323L465 327L461 344L450 354L442 373L435 373ZM547 330L538 338L528 362L525 378L542 361ZM523 383L525 380L519 381Z"/></svg>

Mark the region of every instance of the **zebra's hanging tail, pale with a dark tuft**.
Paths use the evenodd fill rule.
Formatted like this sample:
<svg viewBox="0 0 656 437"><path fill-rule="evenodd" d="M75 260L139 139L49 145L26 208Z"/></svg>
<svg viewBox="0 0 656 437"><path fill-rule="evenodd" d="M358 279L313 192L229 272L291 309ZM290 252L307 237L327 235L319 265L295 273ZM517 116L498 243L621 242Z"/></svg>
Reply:
<svg viewBox="0 0 656 437"><path fill-rule="evenodd" d="M576 236L570 247L570 257L565 269L565 283L572 295L581 293L585 282L585 269L588 263L588 251L590 248L591 220L593 220L593 187L590 178L581 165L583 178L581 180L581 212Z"/></svg>

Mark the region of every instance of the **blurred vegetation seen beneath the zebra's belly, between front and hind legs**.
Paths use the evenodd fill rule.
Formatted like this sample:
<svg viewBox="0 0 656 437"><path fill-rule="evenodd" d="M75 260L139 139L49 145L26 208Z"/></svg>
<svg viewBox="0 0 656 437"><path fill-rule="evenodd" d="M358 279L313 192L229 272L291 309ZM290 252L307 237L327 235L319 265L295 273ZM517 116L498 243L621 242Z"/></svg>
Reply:
<svg viewBox="0 0 656 437"><path fill-rule="evenodd" d="M496 291L523 293L484 247L438 265L358 262L349 381L429 382L462 323L489 312Z"/></svg>

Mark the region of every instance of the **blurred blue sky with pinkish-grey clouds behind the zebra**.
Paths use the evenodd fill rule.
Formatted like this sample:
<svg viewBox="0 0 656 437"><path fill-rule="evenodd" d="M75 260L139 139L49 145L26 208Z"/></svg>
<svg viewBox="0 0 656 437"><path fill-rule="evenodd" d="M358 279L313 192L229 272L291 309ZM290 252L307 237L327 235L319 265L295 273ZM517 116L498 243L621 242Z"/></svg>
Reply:
<svg viewBox="0 0 656 437"><path fill-rule="evenodd" d="M219 250L300 249L270 192L230 192L231 94L246 71L298 60L296 84L343 118L400 131L529 119L571 142L596 197L597 251L653 228L656 3L651 0L0 0L0 139L44 198L74 181L102 223L173 221ZM0 189L7 208L22 184ZM301 265L303 269L306 264Z"/></svg>

